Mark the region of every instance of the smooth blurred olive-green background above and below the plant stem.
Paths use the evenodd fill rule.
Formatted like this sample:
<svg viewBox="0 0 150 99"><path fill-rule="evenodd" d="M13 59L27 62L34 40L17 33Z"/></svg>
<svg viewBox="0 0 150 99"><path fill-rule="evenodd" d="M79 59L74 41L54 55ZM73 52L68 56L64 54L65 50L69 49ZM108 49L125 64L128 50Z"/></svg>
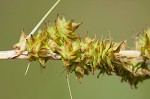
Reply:
<svg viewBox="0 0 150 99"><path fill-rule="evenodd" d="M10 50L18 42L22 29L28 34L56 0L0 0L0 50ZM134 48L135 36L150 25L150 0L61 0L45 20L57 14L83 24L77 30L81 36L91 37L109 33L114 41L128 40ZM44 27L44 24L41 28ZM41 72L37 62L0 60L0 99L70 99L66 73L61 61L47 62ZM73 99L150 99L150 80L131 89L117 76L85 76L80 84L70 76Z"/></svg>

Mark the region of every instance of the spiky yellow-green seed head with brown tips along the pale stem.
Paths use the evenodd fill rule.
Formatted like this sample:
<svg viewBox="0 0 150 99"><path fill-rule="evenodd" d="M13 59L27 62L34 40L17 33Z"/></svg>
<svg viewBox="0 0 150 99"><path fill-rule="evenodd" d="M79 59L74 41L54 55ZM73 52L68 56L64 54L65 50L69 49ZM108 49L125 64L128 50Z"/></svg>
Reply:
<svg viewBox="0 0 150 99"><path fill-rule="evenodd" d="M40 30L36 36L31 35L27 40L26 50L30 61L39 61L45 67L49 57L61 56L64 68L68 73L74 72L80 80L84 75L94 74L116 74L122 81L128 82L136 87L138 82L149 78L149 69L145 60L116 57L124 47L124 42L115 43L111 40L99 40L96 37L91 39L88 35L81 39L75 30L81 23L66 21L64 17L58 17L55 23L49 23L44 30ZM150 33L149 33L150 34ZM19 49L26 35L23 33L19 43L14 45ZM148 33L139 39L142 55L150 58L150 41ZM147 40L147 41L146 41ZM146 42L142 44L143 42Z"/></svg>

